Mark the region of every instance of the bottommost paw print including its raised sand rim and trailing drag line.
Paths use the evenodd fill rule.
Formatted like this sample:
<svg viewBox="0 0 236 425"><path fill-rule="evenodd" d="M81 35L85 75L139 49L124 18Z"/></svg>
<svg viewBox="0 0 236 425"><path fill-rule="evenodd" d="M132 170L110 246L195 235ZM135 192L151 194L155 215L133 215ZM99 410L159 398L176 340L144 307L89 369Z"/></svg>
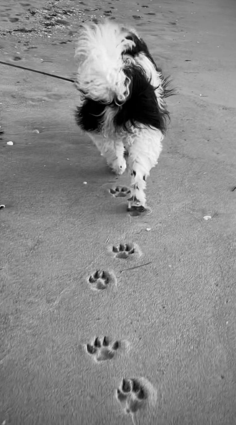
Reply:
<svg viewBox="0 0 236 425"><path fill-rule="evenodd" d="M122 378L116 390L116 397L125 413L131 415L134 425L136 425L136 414L141 409L154 406L157 398L155 388L143 377Z"/></svg>

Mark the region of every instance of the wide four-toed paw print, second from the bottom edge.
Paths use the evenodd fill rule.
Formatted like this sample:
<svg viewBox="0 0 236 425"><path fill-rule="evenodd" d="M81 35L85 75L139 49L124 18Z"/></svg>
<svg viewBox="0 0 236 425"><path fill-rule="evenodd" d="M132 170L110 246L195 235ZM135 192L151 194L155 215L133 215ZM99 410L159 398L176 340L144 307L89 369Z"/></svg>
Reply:
<svg viewBox="0 0 236 425"><path fill-rule="evenodd" d="M88 354L94 357L94 360L101 362L113 359L119 346L119 341L111 343L108 337L104 337L102 340L97 337L93 344L86 345L86 350Z"/></svg>

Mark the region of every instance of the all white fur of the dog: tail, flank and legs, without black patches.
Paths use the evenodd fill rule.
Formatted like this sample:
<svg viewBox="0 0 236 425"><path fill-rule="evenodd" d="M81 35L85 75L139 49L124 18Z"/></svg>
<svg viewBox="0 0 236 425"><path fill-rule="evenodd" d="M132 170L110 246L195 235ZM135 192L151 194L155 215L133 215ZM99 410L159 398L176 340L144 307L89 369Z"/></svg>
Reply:
<svg viewBox="0 0 236 425"><path fill-rule="evenodd" d="M131 31L134 33L133 29ZM75 51L78 64L76 86L85 99L107 104L100 131L89 131L88 136L117 174L122 174L126 169L124 152L128 151L130 201L134 207L145 207L146 179L151 168L157 164L164 134L155 127L143 124L138 128L131 125L127 133L119 132L114 129L113 121L118 108L130 95L131 79L123 71L125 65L134 64L142 68L155 88L160 109L165 108L163 77L145 53L140 52L135 57L122 54L134 45L134 41L125 38L129 33L129 30L109 21L84 25ZM114 99L117 108L109 105Z"/></svg>

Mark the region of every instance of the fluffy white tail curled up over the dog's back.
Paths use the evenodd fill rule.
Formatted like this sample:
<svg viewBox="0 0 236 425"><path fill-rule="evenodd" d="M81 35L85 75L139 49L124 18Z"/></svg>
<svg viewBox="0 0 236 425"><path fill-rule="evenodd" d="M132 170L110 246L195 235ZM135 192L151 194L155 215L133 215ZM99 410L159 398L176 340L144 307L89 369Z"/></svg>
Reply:
<svg viewBox="0 0 236 425"><path fill-rule="evenodd" d="M109 21L82 27L75 51L76 86L85 97L118 105L128 98L131 82L124 72L123 53L134 46L128 35L127 30Z"/></svg>

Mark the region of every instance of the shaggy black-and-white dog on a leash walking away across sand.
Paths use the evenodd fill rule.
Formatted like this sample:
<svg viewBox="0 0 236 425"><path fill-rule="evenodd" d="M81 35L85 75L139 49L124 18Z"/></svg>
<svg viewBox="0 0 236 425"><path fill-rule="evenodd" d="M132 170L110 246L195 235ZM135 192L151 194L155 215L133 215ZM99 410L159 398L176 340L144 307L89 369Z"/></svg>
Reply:
<svg viewBox="0 0 236 425"><path fill-rule="evenodd" d="M128 165L128 210L143 212L146 181L170 121L165 104L173 94L170 80L162 76L134 29L110 21L82 25L74 58L82 100L76 122L114 173L124 173Z"/></svg>

